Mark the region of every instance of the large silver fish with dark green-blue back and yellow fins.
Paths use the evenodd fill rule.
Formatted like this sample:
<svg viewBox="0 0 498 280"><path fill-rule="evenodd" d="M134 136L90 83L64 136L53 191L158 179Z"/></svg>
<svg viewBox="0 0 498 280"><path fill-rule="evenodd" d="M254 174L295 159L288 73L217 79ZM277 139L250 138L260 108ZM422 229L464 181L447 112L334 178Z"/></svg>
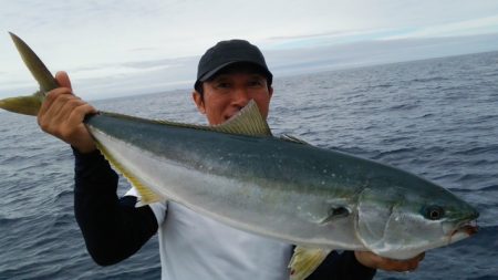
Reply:
<svg viewBox="0 0 498 280"><path fill-rule="evenodd" d="M33 115L58 84L11 35L41 89L0 101L0 107ZM477 231L477 210L445 188L381 163L273 137L252 101L218 126L105 112L85 124L98 149L139 190L142 203L170 199L232 227L298 245L295 279L305 278L332 249L408 259Z"/></svg>

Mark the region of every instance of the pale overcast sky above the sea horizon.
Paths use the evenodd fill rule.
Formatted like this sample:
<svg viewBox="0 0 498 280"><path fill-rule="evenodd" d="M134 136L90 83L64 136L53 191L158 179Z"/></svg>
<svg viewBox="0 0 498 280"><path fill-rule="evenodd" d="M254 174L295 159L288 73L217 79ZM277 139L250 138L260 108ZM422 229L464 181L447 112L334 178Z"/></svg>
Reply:
<svg viewBox="0 0 498 280"><path fill-rule="evenodd" d="M276 79L498 51L496 0L0 0L0 97L38 89L8 32L86 100L190 91L216 42L258 45ZM3 35L2 35L3 34Z"/></svg>

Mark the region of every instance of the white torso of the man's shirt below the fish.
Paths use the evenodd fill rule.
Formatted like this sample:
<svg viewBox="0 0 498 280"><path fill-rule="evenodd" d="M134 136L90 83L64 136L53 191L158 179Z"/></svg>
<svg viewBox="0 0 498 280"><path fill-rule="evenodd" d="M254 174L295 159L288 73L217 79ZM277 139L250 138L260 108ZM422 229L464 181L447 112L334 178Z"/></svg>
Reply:
<svg viewBox="0 0 498 280"><path fill-rule="evenodd" d="M135 190L126 195L139 197ZM289 279L291 245L231 228L173 201L149 206L159 225L163 280Z"/></svg>

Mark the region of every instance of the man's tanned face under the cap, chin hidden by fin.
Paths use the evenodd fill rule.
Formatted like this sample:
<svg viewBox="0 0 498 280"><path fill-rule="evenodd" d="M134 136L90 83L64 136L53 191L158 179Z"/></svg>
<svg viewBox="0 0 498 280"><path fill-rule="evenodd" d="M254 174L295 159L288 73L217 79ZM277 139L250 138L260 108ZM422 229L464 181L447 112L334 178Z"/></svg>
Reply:
<svg viewBox="0 0 498 280"><path fill-rule="evenodd" d="M204 82L203 89L204 97L198 92L194 92L193 97L199 112L206 115L211 125L226 122L250 100L255 100L261 115L267 118L273 93L263 75L245 71L218 74Z"/></svg>

